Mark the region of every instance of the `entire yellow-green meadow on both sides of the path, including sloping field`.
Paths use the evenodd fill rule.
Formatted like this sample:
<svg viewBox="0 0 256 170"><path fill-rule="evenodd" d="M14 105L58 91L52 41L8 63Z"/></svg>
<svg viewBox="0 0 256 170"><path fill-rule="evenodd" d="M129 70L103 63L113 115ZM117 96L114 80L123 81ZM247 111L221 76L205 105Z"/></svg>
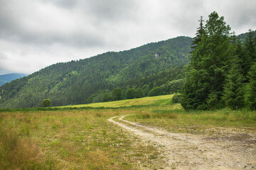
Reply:
<svg viewBox="0 0 256 170"><path fill-rule="evenodd" d="M255 111L183 111L172 95L68 108L0 111L0 169L161 168L156 147L107 121L115 115L171 132L256 132ZM76 108L72 108L76 107ZM87 108L86 108L87 107ZM81 108L81 109L78 109Z"/></svg>

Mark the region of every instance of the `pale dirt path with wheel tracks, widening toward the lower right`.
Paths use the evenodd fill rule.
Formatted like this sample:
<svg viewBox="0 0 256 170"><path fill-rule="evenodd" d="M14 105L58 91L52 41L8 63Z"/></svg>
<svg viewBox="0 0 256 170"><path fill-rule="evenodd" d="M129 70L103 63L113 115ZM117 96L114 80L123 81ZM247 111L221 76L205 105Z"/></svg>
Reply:
<svg viewBox="0 0 256 170"><path fill-rule="evenodd" d="M165 169L256 169L254 135L209 137L171 133L123 120L125 116L109 121L139 135L143 142L156 145L166 162Z"/></svg>

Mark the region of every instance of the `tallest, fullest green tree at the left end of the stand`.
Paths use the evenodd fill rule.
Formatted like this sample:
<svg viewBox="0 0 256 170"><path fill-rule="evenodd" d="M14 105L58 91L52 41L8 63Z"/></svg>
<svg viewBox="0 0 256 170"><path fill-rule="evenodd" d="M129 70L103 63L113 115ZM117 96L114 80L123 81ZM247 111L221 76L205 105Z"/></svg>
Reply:
<svg viewBox="0 0 256 170"><path fill-rule="evenodd" d="M201 42L191 55L181 98L183 108L215 108L220 103L230 60L229 31L223 16L210 13Z"/></svg>

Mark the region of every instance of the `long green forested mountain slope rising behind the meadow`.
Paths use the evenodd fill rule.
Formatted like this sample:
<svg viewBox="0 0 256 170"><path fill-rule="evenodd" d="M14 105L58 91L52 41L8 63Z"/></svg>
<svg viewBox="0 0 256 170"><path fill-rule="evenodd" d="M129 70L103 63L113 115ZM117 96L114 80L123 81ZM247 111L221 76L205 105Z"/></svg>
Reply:
<svg viewBox="0 0 256 170"><path fill-rule="evenodd" d="M117 87L124 93L130 88L142 89L147 95L161 86L165 89L162 93L168 94L170 84L182 82L178 79L184 77L192 40L178 37L53 64L1 86L0 108L38 107L45 98L50 98L53 106L90 103Z"/></svg>

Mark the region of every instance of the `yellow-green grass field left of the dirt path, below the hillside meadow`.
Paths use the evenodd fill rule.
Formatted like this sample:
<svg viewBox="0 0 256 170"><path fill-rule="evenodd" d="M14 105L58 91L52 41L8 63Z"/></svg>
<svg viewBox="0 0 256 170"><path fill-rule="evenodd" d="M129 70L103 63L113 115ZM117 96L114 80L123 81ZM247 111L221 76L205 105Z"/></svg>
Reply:
<svg viewBox="0 0 256 170"><path fill-rule="evenodd" d="M154 148L135 144L134 137L107 121L136 113L130 110L0 113L0 169L139 169L138 162L149 166L146 157ZM143 157L133 157L141 153Z"/></svg>

